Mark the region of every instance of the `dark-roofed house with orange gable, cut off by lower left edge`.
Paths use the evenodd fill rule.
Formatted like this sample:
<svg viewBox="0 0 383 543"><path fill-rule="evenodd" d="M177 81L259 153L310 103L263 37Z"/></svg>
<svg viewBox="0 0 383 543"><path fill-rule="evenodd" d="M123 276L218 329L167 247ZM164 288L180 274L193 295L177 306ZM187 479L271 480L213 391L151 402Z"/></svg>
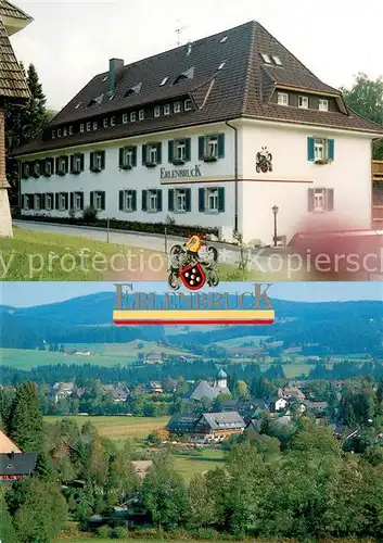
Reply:
<svg viewBox="0 0 383 543"><path fill-rule="evenodd" d="M0 430L0 482L13 482L33 473L36 453L23 453L3 431Z"/></svg>

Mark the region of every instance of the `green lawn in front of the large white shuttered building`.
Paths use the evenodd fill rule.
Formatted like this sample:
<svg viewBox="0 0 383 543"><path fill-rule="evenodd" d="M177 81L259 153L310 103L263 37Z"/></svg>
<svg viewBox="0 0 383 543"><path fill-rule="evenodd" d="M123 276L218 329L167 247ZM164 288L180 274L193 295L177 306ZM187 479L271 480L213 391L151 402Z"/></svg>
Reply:
<svg viewBox="0 0 383 543"><path fill-rule="evenodd" d="M166 278L165 253L17 227L14 227L13 233L13 239L1 240L0 279L3 281L97 281L118 278L126 280L135 277L137 279L137 270L141 267L143 269L140 272L141 280L143 276L144 280ZM117 272L112 273L111 258L116 254L122 256L114 264ZM153 267L159 267L161 257L163 269L151 273L148 261L154 254L158 257L155 257ZM5 263L8 270L1 262Z"/></svg>

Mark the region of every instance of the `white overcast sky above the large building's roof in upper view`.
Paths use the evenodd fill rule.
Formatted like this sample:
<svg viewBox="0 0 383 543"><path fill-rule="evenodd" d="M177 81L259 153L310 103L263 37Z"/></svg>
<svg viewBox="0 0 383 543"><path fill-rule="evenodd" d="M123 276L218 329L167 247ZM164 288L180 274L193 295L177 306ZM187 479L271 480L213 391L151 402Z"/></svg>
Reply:
<svg viewBox="0 0 383 543"><path fill-rule="evenodd" d="M261 23L318 77L350 86L383 74L382 0L14 0L34 23L12 38L38 70L48 105L62 109L108 59L125 63L251 20Z"/></svg>

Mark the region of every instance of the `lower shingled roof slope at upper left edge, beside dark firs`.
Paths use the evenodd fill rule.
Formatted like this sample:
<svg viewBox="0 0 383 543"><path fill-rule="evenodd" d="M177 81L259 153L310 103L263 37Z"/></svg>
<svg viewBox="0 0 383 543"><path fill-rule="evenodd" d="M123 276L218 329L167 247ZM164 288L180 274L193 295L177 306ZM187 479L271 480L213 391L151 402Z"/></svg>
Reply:
<svg viewBox="0 0 383 543"><path fill-rule="evenodd" d="M0 97L24 102L29 98L25 76L16 61L10 38L0 21Z"/></svg>

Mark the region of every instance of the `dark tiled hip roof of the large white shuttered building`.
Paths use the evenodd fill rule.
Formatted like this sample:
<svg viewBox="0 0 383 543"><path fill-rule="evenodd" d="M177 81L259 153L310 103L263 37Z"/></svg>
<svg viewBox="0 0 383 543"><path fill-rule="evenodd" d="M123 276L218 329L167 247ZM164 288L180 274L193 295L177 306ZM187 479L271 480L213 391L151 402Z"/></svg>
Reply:
<svg viewBox="0 0 383 543"><path fill-rule="evenodd" d="M221 42L225 36L227 40ZM282 67L265 64L261 53L279 56ZM222 62L224 68L218 70ZM193 77L174 85L177 76L190 68L194 68ZM168 80L161 86L165 77L168 77ZM139 84L142 85L138 94L125 97L129 89ZM190 97L194 103L193 111L145 118L127 125L117 124L115 127L92 132L76 132L50 141L44 141L40 135L16 154L69 148L238 117L383 134L383 127L353 112L321 112L270 103L270 96L278 86L332 93L337 97L344 112L348 112L339 90L316 77L259 23L250 22L195 41L191 45L189 54L188 46L182 46L124 66L116 73L112 100L107 99L107 72L97 75L55 116L50 128L145 104L161 103L176 97ZM89 106L91 100L101 96L101 104Z"/></svg>

